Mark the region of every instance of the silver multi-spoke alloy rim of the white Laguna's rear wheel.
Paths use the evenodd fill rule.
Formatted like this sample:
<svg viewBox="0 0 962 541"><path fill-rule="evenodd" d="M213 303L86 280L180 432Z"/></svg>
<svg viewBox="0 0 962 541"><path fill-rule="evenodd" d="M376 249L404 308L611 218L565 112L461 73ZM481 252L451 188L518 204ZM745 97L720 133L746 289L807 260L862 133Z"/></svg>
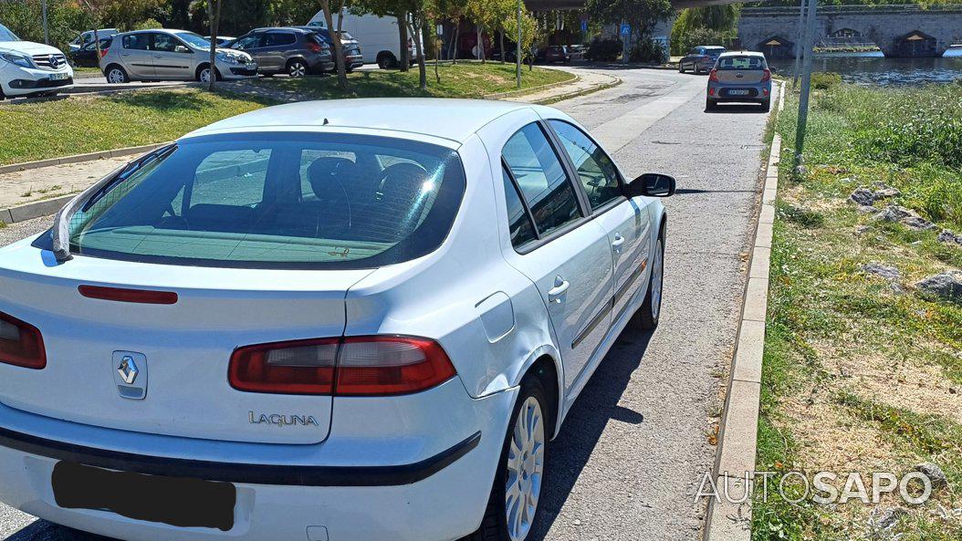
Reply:
<svg viewBox="0 0 962 541"><path fill-rule="evenodd" d="M504 510L511 541L523 541L534 524L544 476L544 414L528 397L518 412L508 449Z"/></svg>

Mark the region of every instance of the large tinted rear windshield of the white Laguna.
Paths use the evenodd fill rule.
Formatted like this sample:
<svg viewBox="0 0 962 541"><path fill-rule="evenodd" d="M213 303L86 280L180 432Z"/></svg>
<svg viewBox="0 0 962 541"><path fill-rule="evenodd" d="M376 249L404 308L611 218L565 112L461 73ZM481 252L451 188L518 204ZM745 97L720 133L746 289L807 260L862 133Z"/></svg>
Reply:
<svg viewBox="0 0 962 541"><path fill-rule="evenodd" d="M426 143L197 137L132 164L71 216L71 251L200 266L373 268L437 249L464 190L457 154Z"/></svg>

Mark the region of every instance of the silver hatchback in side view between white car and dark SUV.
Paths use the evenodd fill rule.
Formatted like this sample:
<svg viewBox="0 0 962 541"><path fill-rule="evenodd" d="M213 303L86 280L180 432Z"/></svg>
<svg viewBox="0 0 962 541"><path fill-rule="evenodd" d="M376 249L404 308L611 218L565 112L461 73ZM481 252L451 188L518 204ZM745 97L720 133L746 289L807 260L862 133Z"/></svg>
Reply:
<svg viewBox="0 0 962 541"><path fill-rule="evenodd" d="M211 79L211 42L185 30L140 30L114 36L100 59L109 83ZM257 77L257 62L242 51L217 49L217 79Z"/></svg>

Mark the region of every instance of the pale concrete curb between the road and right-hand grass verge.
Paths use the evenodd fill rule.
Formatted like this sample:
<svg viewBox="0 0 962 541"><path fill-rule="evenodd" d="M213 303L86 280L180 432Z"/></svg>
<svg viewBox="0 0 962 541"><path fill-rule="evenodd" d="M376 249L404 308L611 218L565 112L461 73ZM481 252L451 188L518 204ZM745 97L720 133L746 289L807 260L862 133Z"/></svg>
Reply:
<svg viewBox="0 0 962 541"><path fill-rule="evenodd" d="M785 86L782 85L775 115L783 109L784 104ZM772 262L772 225L780 155L781 137L776 133L766 165L762 204L748 265L745 303L735 339L735 356L719 430L719 449L713 477L718 496L709 500L705 541L748 541L751 538L752 483L750 479L746 482L746 474L755 470L758 443L765 317ZM728 498L724 497L725 494ZM742 503L735 503L743 500L743 497Z"/></svg>

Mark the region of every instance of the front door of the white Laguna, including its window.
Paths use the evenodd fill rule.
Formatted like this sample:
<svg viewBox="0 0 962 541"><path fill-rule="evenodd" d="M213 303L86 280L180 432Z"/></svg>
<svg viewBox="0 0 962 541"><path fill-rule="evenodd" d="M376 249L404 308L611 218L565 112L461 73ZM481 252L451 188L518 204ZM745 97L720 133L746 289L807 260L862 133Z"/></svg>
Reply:
<svg viewBox="0 0 962 541"><path fill-rule="evenodd" d="M618 321L646 284L650 220L641 200L624 197L615 162L577 126L548 120L568 155L597 222L608 234L614 264L613 316Z"/></svg>

